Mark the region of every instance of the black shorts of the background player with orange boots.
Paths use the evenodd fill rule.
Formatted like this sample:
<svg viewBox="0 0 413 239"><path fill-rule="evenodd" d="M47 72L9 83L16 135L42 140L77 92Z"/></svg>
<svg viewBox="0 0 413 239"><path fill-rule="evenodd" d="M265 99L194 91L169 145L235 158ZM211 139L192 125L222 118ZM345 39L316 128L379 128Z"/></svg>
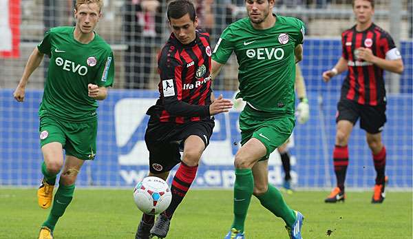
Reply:
<svg viewBox="0 0 413 239"><path fill-rule="evenodd" d="M385 105L360 105L350 100L341 100L337 104L336 123L339 121L350 121L356 124L360 117L360 127L370 134L383 131L387 120L385 117Z"/></svg>

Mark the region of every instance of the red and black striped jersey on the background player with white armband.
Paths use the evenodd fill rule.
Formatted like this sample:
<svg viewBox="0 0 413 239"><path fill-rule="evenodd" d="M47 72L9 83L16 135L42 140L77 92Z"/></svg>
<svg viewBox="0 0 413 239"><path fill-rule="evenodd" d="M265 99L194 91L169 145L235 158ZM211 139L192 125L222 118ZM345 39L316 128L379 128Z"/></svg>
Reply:
<svg viewBox="0 0 413 239"><path fill-rule="evenodd" d="M358 48L370 48L374 56L385 59L386 52L396 46L388 32L372 23L363 32L356 25L341 34L342 57L346 59L348 74L341 87L341 99L347 98L361 105L385 103L383 69L357 57Z"/></svg>

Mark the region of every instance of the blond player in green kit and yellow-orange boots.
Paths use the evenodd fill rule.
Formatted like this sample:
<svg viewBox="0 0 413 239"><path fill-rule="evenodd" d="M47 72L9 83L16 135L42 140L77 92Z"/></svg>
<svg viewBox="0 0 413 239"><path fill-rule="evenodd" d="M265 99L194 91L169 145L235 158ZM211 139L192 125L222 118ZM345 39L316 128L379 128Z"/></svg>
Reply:
<svg viewBox="0 0 413 239"><path fill-rule="evenodd" d="M113 52L94 32L102 8L101 0L77 0L76 26L52 28L45 33L43 41L30 55L14 91L14 98L22 102L30 75L47 54L50 64L39 108L44 161L41 166L43 180L37 196L43 209L52 205L56 175L63 162L64 167L52 209L41 226L41 239L53 238L56 222L72 201L78 172L85 160L93 160L96 156L96 100L107 97L107 87L114 81Z"/></svg>

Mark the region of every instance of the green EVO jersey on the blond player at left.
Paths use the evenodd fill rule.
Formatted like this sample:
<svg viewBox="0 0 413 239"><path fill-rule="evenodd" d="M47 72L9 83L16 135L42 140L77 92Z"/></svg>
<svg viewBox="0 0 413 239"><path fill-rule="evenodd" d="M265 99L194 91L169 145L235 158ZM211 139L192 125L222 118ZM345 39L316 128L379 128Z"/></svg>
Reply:
<svg viewBox="0 0 413 239"><path fill-rule="evenodd" d="M114 82L114 54L95 32L83 44L74 39L74 27L51 28L37 49L50 56L39 116L87 122L97 118L98 103L87 96L89 83L109 87Z"/></svg>

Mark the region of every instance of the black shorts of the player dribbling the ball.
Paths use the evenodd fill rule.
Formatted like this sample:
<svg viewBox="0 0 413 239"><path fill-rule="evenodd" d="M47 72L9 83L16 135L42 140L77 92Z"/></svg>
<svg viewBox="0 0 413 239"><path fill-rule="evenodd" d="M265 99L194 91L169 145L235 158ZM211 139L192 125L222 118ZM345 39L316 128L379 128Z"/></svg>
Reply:
<svg viewBox="0 0 413 239"><path fill-rule="evenodd" d="M161 123L149 118L145 132L145 143L149 150L149 170L151 173L169 172L180 163L180 151L183 150L185 139L191 135L199 136L207 148L214 125L213 119L176 124Z"/></svg>

